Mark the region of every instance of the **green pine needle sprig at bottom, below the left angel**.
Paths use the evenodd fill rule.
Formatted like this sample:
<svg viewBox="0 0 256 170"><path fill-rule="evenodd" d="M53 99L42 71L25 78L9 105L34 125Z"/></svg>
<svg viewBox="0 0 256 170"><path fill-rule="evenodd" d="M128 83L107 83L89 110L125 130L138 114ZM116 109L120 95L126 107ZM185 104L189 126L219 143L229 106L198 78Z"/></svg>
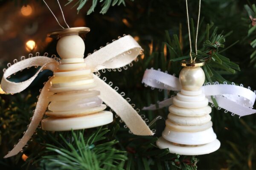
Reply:
<svg viewBox="0 0 256 170"><path fill-rule="evenodd" d="M87 138L84 130L71 131L67 135L60 133L61 144L44 144L41 166L60 170L123 170L119 163L127 157L124 151L117 150L116 140L105 140L108 129L99 128ZM54 139L54 138L52 138ZM56 142L55 142L56 143Z"/></svg>

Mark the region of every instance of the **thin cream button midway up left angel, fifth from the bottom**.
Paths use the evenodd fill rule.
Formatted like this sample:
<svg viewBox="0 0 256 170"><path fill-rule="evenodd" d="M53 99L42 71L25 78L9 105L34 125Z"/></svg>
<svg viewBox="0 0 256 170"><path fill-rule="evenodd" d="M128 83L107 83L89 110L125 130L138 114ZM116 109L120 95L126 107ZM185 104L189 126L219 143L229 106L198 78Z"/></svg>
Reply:
<svg viewBox="0 0 256 170"><path fill-rule="evenodd" d="M96 83L90 83L85 85L74 85L69 87L61 87L61 88L50 88L49 91L53 93L60 93L60 92L67 92L67 91L81 91L81 90L88 90L90 88L96 87Z"/></svg>

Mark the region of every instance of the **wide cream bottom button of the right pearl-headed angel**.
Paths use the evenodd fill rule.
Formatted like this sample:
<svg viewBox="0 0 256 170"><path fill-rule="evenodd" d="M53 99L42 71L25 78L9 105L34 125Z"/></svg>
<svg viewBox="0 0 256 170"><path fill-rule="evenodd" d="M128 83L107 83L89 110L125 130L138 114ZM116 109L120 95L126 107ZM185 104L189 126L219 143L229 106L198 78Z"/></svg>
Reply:
<svg viewBox="0 0 256 170"><path fill-rule="evenodd" d="M221 143L218 139L215 139L213 142L208 144L201 144L198 146L179 146L175 145L167 140L165 140L163 137L160 137L157 140L157 147L160 149L166 149L168 148L170 153L178 153L180 155L204 155L208 153L212 153L215 150L218 150L218 148L221 146Z"/></svg>

